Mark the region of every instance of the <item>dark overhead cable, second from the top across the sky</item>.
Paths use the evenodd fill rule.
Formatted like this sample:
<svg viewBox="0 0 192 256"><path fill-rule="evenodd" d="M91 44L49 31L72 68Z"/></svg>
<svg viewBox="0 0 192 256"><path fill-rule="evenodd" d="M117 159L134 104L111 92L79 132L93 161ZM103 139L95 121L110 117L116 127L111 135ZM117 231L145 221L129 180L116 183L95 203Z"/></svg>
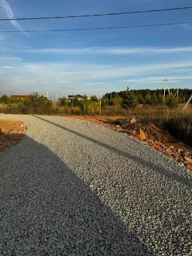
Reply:
<svg viewBox="0 0 192 256"><path fill-rule="evenodd" d="M152 25L138 25L138 26L122 26L122 27L107 27L107 28L79 28L79 29L49 29L49 30L6 30L3 32L54 32L54 31L80 31L80 30L97 30L97 29L115 29L115 28L139 28L139 27L151 27L151 26L166 26L166 25L179 25L189 24L190 22L177 22L177 23L165 23L165 24L152 24Z"/></svg>

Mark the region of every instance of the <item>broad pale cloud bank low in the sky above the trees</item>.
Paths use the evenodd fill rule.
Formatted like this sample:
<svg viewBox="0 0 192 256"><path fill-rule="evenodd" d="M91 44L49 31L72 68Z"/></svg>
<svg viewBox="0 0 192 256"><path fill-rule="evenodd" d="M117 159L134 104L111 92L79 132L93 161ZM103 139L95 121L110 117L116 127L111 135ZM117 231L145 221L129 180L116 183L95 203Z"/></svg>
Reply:
<svg viewBox="0 0 192 256"><path fill-rule="evenodd" d="M11 65L10 65L11 63ZM3 66L3 67L2 67ZM163 79L177 75L191 62L150 63L143 65L93 65L72 62L29 63L20 58L1 57L1 90L14 92L53 91L66 93L102 94L126 88L157 88ZM189 81L186 78L178 81ZM150 85L149 85L150 84ZM175 82L176 84L176 82ZM182 83L179 85L186 86Z"/></svg>

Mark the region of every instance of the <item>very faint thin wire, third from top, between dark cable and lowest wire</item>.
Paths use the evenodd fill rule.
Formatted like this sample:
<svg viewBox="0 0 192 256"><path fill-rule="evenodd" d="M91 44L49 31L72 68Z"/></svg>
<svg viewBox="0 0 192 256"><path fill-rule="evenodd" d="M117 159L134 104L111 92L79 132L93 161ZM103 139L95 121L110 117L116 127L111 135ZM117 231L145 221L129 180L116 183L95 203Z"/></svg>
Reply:
<svg viewBox="0 0 192 256"><path fill-rule="evenodd" d="M180 26L179 26L180 27ZM115 31L115 32L104 32L104 33L92 33L92 34L81 34L81 35L62 35L62 36L46 36L46 37L32 37L32 38L19 38L19 39L6 39L6 40L0 40L0 42L4 41L20 41L20 40L33 40L33 39L44 39L44 38L60 38L60 37L71 37L71 36L89 36L89 35L106 35L106 34L114 34L114 33L125 33L125 32L137 32L137 31L146 31L146 30L156 30L156 29L165 29L164 28L150 28L150 29L137 29L137 30L125 30L125 31ZM170 27L170 28L176 28L176 27Z"/></svg>

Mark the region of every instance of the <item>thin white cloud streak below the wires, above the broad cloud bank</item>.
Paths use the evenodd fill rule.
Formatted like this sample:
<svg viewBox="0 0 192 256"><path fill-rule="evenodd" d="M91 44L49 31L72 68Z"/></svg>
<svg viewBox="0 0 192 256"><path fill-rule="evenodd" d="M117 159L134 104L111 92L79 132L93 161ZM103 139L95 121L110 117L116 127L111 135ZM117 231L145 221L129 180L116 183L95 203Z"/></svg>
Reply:
<svg viewBox="0 0 192 256"><path fill-rule="evenodd" d="M40 54L107 54L107 55L125 55L125 54L162 54L162 53L184 53L192 52L192 47L175 48L154 48L154 47L89 47L89 48L49 48L26 50L29 53Z"/></svg>

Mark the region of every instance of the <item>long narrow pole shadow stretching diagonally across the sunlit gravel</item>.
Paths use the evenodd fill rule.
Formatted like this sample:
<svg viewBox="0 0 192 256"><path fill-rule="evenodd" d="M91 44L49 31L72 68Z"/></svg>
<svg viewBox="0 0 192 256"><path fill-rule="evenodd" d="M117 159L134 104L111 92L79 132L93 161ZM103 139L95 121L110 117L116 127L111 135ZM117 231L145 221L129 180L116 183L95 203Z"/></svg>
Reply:
<svg viewBox="0 0 192 256"><path fill-rule="evenodd" d="M53 124L53 125L55 125L55 126L61 128L61 129L63 129L63 130L66 130L66 131L68 131L68 132L71 132L71 133L73 133L73 134L75 134L75 135L78 135L78 136L80 136L80 137L82 137L82 138L84 138L84 139L86 139L86 140L92 141L93 143L95 143L95 144L97 144L97 145L99 145L99 146L105 147L105 148L109 149L110 151L113 151L113 152L115 152L115 153L117 153L117 154L123 155L123 156L125 156L125 157L131 159L132 161L134 161L134 162L136 162L136 163L138 163L138 164L143 165L144 167L150 168L150 169L152 169L152 170L154 170L154 171L160 173L161 175L164 175L164 176L167 176L167 177L169 177L169 178L171 178L171 179L174 179L174 180L176 180L177 182L179 182L179 183L181 183L181 184L183 184L183 185L189 187L190 189L192 188L192 178L191 178L191 177L189 177L189 179L187 179L185 175L178 175L177 173L174 172L174 170L173 170L173 171L170 171L170 170L168 170L168 169L164 169L164 168L161 167L161 166L155 165L155 164L153 163L152 159L151 159L151 162L149 162L149 161L144 160L144 159L142 159L142 158L133 156L133 155L129 154L129 153L126 152L126 151L119 150L119 149L117 149L117 148L114 148L114 147L112 147L112 146L106 144L106 143L100 142L100 141L98 141L98 140L96 140L96 139L90 138L90 137L88 137L88 136L86 136L86 135L83 135L83 134L78 133L78 132L76 132L76 131L70 130L70 129L68 129L68 128L62 126L62 125L59 125L59 124L53 123L53 122L51 122L51 121L48 121L48 120L46 120L46 119L44 119L44 118L42 118L42 117L39 117L39 116L34 116L34 117L36 117L36 118L38 118L38 119L41 119L41 120L43 120L43 121L45 121L45 122L47 122L47 123ZM186 170L185 170L185 169L183 169L183 172L186 174Z"/></svg>

